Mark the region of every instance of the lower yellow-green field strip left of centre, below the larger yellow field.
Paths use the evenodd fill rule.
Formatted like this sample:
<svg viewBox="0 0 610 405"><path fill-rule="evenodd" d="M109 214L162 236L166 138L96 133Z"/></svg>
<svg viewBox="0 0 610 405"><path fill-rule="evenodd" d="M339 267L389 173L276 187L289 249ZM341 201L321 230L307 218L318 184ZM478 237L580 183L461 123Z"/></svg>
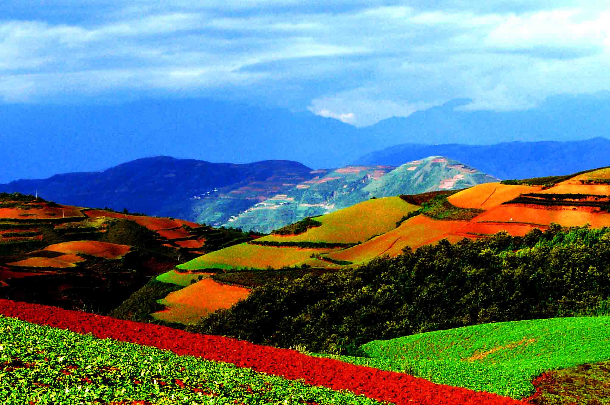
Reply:
<svg viewBox="0 0 610 405"><path fill-rule="evenodd" d="M190 262L178 265L184 270L204 270L206 268L281 268L293 266L303 260L309 259L314 253L328 253L336 249L301 249L301 248L275 248L273 246L240 245L210 252L199 256Z"/></svg>

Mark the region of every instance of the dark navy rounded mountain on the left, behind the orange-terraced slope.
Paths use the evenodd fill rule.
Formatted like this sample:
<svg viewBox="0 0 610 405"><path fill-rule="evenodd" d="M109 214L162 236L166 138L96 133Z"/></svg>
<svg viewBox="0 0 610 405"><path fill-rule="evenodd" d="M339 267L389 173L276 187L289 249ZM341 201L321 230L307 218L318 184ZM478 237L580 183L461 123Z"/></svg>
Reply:
<svg viewBox="0 0 610 405"><path fill-rule="evenodd" d="M38 193L47 200L81 207L127 208L147 215L201 220L222 201L219 220L237 215L282 190L313 177L309 167L289 160L235 164L168 156L137 159L101 172L56 174L48 179L0 184L0 192ZM286 185L284 185L286 184ZM246 193L244 189L253 188ZM208 218L202 222L209 223Z"/></svg>

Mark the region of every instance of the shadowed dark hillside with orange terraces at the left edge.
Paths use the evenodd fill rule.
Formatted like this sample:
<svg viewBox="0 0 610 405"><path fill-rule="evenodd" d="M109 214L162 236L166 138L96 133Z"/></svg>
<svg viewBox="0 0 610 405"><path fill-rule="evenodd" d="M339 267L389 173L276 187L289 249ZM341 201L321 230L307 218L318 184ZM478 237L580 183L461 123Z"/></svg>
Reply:
<svg viewBox="0 0 610 405"><path fill-rule="evenodd" d="M151 276L248 235L0 193L0 293L106 314Z"/></svg>

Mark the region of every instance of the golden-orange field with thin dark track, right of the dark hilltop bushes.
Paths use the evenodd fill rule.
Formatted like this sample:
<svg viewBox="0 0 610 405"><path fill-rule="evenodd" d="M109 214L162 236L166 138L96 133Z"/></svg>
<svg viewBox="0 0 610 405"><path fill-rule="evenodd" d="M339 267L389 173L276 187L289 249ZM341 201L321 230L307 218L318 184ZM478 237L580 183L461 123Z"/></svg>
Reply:
<svg viewBox="0 0 610 405"><path fill-rule="evenodd" d="M484 183L462 190L447 198L451 204L462 208L491 209L504 201L519 197L523 193L537 193L540 187L528 185L506 185L500 183Z"/></svg>

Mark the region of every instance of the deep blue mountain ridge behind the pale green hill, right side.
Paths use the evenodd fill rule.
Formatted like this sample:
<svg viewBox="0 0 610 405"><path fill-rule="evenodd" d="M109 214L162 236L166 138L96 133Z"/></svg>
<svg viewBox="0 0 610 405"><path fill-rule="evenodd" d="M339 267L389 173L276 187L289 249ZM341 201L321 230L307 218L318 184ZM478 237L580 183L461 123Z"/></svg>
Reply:
<svg viewBox="0 0 610 405"><path fill-rule="evenodd" d="M415 145L406 143L372 152L354 164L398 165L421 156L441 155L499 177L525 179L576 173L610 165L610 140L506 142L497 145Z"/></svg>

